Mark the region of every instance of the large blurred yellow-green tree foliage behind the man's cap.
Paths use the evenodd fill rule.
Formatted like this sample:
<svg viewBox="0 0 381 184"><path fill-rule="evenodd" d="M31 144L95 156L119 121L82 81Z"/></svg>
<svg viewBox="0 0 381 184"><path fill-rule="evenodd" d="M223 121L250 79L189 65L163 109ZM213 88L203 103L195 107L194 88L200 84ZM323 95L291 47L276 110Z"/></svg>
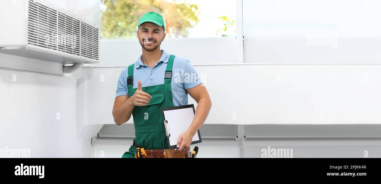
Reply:
<svg viewBox="0 0 381 184"><path fill-rule="evenodd" d="M155 11L163 16L166 37L187 37L188 30L199 22L198 6L185 1L104 0L101 9L101 38L137 38L140 17Z"/></svg>

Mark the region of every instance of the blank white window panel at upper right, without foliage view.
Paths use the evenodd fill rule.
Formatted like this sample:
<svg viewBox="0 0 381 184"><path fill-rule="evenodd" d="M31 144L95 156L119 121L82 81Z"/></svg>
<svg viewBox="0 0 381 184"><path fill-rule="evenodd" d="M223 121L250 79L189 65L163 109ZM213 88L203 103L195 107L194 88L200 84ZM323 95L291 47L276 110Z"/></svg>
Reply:
<svg viewBox="0 0 381 184"><path fill-rule="evenodd" d="M243 0L245 63L379 63L380 5Z"/></svg>

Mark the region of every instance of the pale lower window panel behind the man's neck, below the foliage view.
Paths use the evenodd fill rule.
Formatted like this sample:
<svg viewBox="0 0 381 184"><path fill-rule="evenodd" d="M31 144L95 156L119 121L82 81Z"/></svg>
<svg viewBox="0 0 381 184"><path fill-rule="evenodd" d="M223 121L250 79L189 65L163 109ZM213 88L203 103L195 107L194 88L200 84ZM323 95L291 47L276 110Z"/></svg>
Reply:
<svg viewBox="0 0 381 184"><path fill-rule="evenodd" d="M237 63L235 38L165 38L160 48L187 58L193 64ZM87 66L128 66L142 54L139 40L102 39L99 64Z"/></svg>

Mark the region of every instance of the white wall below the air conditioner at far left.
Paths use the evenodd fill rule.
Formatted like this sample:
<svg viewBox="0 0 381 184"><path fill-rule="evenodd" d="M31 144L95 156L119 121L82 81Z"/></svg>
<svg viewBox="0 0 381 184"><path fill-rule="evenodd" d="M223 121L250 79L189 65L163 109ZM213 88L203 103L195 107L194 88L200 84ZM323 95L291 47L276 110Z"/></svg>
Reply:
<svg viewBox="0 0 381 184"><path fill-rule="evenodd" d="M77 121L83 116L77 114L77 79L14 69L28 62L34 69L24 69L62 70L61 64L0 54L0 149L30 149L30 157L93 157L91 138L102 126Z"/></svg>

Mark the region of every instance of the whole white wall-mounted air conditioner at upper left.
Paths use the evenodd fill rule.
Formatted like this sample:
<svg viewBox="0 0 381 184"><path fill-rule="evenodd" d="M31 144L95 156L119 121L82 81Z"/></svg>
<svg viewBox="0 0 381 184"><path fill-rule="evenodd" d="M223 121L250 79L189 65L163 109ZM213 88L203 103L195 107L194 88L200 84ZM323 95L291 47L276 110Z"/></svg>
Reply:
<svg viewBox="0 0 381 184"><path fill-rule="evenodd" d="M99 63L99 25L43 0L0 0L0 52Z"/></svg>

